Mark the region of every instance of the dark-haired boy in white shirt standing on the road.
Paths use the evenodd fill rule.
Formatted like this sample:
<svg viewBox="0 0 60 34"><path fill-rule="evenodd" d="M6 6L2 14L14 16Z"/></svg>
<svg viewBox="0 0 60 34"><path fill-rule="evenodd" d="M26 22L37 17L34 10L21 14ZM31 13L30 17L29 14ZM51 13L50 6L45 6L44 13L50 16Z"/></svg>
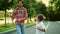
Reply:
<svg viewBox="0 0 60 34"><path fill-rule="evenodd" d="M40 14L37 17L36 34L45 34L45 25L43 24L43 15Z"/></svg>

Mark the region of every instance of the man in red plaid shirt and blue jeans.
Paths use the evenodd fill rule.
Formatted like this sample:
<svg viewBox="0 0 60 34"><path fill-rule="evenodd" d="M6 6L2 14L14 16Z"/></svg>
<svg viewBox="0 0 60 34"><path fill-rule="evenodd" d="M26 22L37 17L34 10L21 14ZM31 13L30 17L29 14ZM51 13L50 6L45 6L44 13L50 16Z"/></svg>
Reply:
<svg viewBox="0 0 60 34"><path fill-rule="evenodd" d="M23 7L23 1L18 0L18 7L13 11L12 23L16 24L17 34L25 34L24 20L28 17L26 8ZM16 22L14 23L14 18Z"/></svg>

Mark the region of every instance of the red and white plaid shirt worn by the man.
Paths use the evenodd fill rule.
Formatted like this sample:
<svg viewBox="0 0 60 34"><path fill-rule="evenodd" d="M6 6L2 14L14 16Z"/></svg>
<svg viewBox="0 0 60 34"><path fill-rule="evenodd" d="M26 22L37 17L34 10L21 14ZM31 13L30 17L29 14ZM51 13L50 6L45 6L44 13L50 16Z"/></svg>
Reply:
<svg viewBox="0 0 60 34"><path fill-rule="evenodd" d="M23 18L27 19L28 14L27 14L27 9L26 8L16 8L13 11L12 14L12 19L16 18L16 22L18 23L24 23L24 20L22 20Z"/></svg>

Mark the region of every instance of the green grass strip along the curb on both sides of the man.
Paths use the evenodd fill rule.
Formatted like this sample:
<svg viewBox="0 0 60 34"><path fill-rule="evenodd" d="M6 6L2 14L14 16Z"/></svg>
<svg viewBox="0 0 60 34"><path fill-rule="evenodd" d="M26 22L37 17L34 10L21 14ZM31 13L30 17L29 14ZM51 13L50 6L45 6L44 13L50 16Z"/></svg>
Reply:
<svg viewBox="0 0 60 34"><path fill-rule="evenodd" d="M25 26L30 26L30 25L33 25L34 23L31 23L31 22L27 22L25 24ZM16 27L16 25L13 25L13 24L7 24L6 27L4 27L4 25L1 25L0 26L0 32L4 32L4 31L8 31L8 30L11 30L11 29L14 29Z"/></svg>

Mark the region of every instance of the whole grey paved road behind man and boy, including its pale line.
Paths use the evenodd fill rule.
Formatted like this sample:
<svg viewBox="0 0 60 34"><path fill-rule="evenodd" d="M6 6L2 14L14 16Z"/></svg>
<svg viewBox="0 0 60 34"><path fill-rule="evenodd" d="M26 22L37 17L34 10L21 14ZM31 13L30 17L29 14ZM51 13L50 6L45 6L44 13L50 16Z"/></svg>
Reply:
<svg viewBox="0 0 60 34"><path fill-rule="evenodd" d="M60 23L58 22L45 22L46 33L45 34L60 34ZM29 28L26 28L26 34L35 34L36 29L35 25ZM16 31L9 34L17 34Z"/></svg>

